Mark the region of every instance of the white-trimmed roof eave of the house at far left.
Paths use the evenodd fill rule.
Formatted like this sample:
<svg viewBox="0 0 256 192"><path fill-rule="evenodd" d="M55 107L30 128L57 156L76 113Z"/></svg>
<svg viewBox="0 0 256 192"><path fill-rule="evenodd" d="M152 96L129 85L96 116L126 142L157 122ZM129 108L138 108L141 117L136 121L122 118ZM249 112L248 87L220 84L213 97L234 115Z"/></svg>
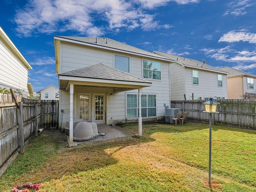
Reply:
<svg viewBox="0 0 256 192"><path fill-rule="evenodd" d="M24 56L20 53L18 48L14 45L12 40L8 37L8 35L4 32L4 30L0 26L0 40L2 40L6 46L12 51L12 53L20 60L20 62L26 66L27 69L32 69L28 61L24 58Z"/></svg>

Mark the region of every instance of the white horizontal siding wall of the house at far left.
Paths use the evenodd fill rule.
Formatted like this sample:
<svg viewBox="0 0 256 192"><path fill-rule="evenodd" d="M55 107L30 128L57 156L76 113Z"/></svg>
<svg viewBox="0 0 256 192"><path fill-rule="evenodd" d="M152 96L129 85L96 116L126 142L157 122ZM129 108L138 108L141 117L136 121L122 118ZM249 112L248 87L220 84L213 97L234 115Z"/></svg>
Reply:
<svg viewBox="0 0 256 192"><path fill-rule="evenodd" d="M28 68L0 40L0 88L13 88L28 95Z"/></svg>

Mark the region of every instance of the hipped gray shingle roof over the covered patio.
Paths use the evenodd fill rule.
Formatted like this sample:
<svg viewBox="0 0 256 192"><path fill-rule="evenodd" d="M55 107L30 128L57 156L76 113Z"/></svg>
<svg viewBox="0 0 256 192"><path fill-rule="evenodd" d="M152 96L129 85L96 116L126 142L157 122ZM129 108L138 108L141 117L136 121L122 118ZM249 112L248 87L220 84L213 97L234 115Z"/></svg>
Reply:
<svg viewBox="0 0 256 192"><path fill-rule="evenodd" d="M77 70L72 70L59 74L60 76L72 76L82 78L93 78L93 79L105 79L105 80L116 80L116 81L129 81L129 82L142 82L150 83L147 80L138 78L126 72L111 68L104 64L96 64L88 67L84 67Z"/></svg>

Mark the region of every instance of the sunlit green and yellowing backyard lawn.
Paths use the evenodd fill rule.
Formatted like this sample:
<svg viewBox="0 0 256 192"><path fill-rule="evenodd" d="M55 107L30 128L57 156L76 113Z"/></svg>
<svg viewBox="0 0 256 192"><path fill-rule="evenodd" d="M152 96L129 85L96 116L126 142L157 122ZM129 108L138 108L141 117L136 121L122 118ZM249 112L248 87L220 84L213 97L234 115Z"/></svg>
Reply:
<svg viewBox="0 0 256 192"><path fill-rule="evenodd" d="M122 128L138 132L138 124ZM65 139L48 131L34 138L1 177L0 191L32 182L42 192L256 192L256 130L212 126L210 185L208 124L143 124L142 138L76 148Z"/></svg>

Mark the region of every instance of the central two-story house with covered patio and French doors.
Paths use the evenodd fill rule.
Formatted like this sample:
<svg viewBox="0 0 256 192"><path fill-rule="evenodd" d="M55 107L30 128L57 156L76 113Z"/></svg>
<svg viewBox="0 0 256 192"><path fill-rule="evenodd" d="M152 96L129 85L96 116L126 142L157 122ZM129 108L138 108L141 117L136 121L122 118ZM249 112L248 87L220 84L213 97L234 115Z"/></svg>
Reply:
<svg viewBox="0 0 256 192"><path fill-rule="evenodd" d="M164 120L172 59L109 38L54 36L54 48L64 124L138 122L141 135L142 121Z"/></svg>

